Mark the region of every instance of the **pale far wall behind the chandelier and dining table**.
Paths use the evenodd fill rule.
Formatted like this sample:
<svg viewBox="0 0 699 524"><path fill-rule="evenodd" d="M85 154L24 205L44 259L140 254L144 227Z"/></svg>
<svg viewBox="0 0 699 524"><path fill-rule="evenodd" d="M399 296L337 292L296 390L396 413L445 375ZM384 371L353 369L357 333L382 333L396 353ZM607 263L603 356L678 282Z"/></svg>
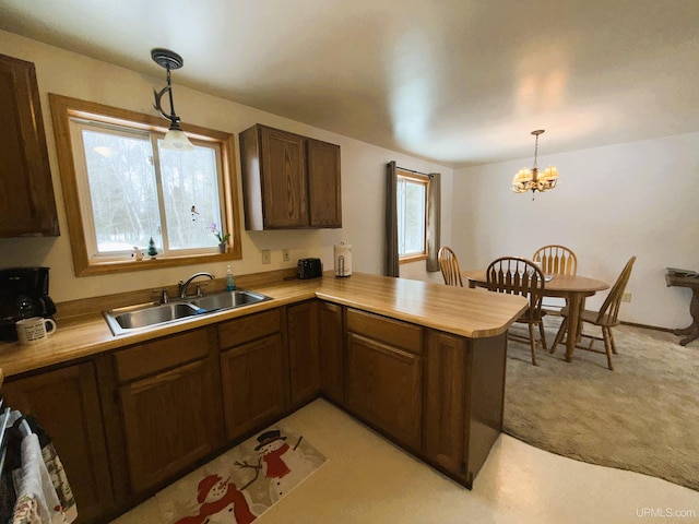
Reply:
<svg viewBox="0 0 699 524"><path fill-rule="evenodd" d="M550 130L554 133L554 130ZM540 156L560 172L558 187L510 192L533 158L454 174L453 243L462 266L500 255L532 257L547 243L578 255L578 274L614 282L638 260L620 318L663 327L691 323L686 288L666 287L665 267L699 270L699 132ZM590 299L597 308L605 294Z"/></svg>

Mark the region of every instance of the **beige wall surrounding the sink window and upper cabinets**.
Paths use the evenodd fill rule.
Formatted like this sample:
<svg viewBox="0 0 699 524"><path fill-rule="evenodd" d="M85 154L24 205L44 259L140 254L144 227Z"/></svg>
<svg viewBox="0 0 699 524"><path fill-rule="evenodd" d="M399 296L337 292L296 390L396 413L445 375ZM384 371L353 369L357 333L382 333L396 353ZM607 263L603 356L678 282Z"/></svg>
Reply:
<svg viewBox="0 0 699 524"><path fill-rule="evenodd" d="M144 49L143 52L147 56L150 50ZM152 107L153 88L159 90L164 85L163 70L154 63L154 76L146 76L5 32L0 32L0 53L35 63L61 228L61 236L56 239L0 239L0 267L15 265L51 267L50 289L56 301L149 287L158 288L173 285L196 271L210 271L216 276L225 274L226 264L218 263L76 278L70 253L48 93L155 114ZM296 260L304 257L320 257L324 267L332 269L332 248L340 241L353 246L354 271L380 274L383 267L386 164L389 160L396 160L400 166L408 169L442 172L445 179L442 183L448 188L451 187L452 170L449 168L178 86L176 73L173 80L177 111L186 122L235 134L259 122L332 142L342 147L343 228L310 231L244 231L242 260L233 263L236 274L293 267L296 265ZM239 151L236 155L239 158ZM239 166L240 163L237 160L238 172ZM449 241L451 206L447 198L449 192L445 191L443 194L446 196L442 238ZM244 224L241 209L240 224ZM282 261L284 248L291 251L289 262ZM272 251L271 264L261 263L262 249ZM413 278L428 278L424 264L411 267L407 273Z"/></svg>

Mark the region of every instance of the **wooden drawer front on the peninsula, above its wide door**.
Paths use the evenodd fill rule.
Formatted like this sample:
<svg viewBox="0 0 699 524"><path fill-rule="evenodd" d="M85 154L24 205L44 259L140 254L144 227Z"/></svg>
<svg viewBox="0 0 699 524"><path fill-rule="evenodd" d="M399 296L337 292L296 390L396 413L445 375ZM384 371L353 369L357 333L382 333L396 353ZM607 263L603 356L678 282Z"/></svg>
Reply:
<svg viewBox="0 0 699 524"><path fill-rule="evenodd" d="M423 327L407 322L348 309L347 331L418 355L423 353Z"/></svg>

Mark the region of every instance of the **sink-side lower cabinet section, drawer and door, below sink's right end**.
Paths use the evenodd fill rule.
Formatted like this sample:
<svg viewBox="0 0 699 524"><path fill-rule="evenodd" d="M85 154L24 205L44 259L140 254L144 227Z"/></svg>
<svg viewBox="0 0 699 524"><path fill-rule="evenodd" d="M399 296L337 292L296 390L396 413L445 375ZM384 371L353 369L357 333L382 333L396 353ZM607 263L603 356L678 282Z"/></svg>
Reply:
<svg viewBox="0 0 699 524"><path fill-rule="evenodd" d="M274 309L232 320L218 327L228 440L274 421L288 405L280 314L280 310Z"/></svg>

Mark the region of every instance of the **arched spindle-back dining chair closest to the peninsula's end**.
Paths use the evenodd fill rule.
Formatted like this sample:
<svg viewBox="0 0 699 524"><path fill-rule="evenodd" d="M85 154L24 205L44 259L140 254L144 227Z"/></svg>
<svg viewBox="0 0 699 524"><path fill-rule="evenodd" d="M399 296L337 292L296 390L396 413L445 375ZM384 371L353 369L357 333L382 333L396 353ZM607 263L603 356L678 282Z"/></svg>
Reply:
<svg viewBox="0 0 699 524"><path fill-rule="evenodd" d="M486 270L488 290L521 295L529 300L529 308L517 319L517 322L529 326L529 338L508 332L508 337L529 342L532 348L532 364L536 366L536 346L534 325L538 325L541 344L546 349L546 335L542 311L544 297L544 274L534 262L519 257L501 257L490 262Z"/></svg>

